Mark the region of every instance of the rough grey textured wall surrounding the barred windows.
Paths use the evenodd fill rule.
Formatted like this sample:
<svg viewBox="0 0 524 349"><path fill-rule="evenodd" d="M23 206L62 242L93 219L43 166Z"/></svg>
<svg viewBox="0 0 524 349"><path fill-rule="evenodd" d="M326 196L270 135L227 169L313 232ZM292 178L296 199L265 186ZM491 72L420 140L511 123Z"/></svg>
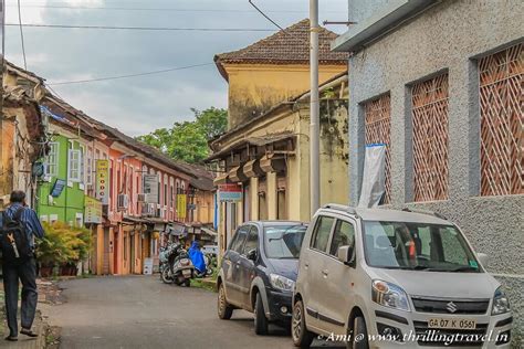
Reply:
<svg viewBox="0 0 524 349"><path fill-rule="evenodd" d="M349 184L356 203L364 160L364 120L359 103L391 95L392 205L409 201L412 183L407 84L449 71L449 181L446 201L417 204L442 212L465 232L478 252L491 257L489 271L505 274L514 311L515 342L524 334L523 195L479 195L479 96L474 57L522 40L520 0L444 1L357 53L349 65ZM407 176L408 174L408 176ZM511 282L509 282L511 281Z"/></svg>

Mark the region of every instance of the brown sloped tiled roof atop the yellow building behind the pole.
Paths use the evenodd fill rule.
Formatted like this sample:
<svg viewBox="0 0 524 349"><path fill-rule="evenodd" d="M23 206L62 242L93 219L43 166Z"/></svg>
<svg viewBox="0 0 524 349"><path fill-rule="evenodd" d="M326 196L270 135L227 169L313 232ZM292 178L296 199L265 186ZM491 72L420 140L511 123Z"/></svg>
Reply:
<svg viewBox="0 0 524 349"><path fill-rule="evenodd" d="M318 59L321 64L347 64L346 52L332 52L331 42L338 35L325 28L318 33ZM262 39L244 49L214 56L222 75L223 63L259 64L308 64L310 20L305 19L275 34Z"/></svg>

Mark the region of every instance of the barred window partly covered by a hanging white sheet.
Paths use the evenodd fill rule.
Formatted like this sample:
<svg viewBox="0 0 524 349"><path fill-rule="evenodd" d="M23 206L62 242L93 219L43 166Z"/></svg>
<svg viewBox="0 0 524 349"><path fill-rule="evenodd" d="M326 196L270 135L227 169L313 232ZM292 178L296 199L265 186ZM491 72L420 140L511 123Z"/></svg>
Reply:
<svg viewBox="0 0 524 349"><path fill-rule="evenodd" d="M364 105L366 145L386 145L386 194L382 203L391 202L391 98L389 94Z"/></svg>

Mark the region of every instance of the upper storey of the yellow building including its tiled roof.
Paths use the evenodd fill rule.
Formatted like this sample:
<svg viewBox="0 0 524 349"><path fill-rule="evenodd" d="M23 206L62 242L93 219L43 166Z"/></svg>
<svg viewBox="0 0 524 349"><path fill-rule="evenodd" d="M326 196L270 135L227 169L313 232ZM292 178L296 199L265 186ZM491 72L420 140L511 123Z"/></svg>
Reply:
<svg viewBox="0 0 524 349"><path fill-rule="evenodd" d="M346 71L347 55L331 52L337 34L321 28L319 83ZM310 20L244 49L217 54L214 63L229 84L229 128L260 116L310 88Z"/></svg>

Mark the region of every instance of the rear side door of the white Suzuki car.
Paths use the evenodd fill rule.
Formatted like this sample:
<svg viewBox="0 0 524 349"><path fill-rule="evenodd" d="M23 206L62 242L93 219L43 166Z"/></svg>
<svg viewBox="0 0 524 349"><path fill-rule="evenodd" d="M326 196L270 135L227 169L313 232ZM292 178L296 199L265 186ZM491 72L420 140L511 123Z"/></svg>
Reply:
<svg viewBox="0 0 524 349"><path fill-rule="evenodd" d="M322 329L323 320L321 314L324 309L326 299L325 293L325 272L327 247L329 236L333 231L335 218L331 215L318 215L311 234L311 240L305 241L307 248L303 250L301 255L301 267L298 273L304 273L305 282L303 284L303 300L306 313L307 327Z"/></svg>

